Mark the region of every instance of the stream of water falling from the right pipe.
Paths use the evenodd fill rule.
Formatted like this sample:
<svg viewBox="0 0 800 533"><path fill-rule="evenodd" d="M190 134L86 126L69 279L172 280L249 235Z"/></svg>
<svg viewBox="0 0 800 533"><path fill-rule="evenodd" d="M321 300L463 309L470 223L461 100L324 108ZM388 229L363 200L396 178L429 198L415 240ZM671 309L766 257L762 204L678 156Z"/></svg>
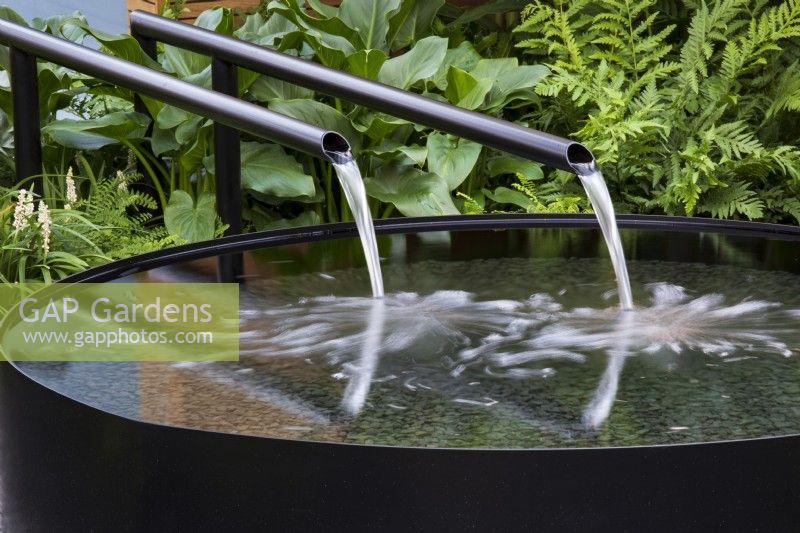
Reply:
<svg viewBox="0 0 800 533"><path fill-rule="evenodd" d="M583 188L586 189L586 195L592 203L597 221L600 223L600 229L603 231L608 253L611 255L611 264L614 266L614 274L617 276L620 307L626 311L631 310L633 309L633 296L631 295L631 282L628 278L628 266L625 264L625 252L622 250L622 240L619 237L617 217L614 214L614 205L611 203L611 195L608 194L606 181L594 161L576 163L573 167L583 183Z"/></svg>

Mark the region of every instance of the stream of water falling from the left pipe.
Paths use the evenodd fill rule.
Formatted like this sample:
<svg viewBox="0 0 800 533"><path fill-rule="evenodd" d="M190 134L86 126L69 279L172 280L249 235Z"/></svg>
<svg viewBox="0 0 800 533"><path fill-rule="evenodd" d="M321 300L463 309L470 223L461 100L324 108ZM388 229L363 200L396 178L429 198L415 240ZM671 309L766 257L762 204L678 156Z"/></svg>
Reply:
<svg viewBox="0 0 800 533"><path fill-rule="evenodd" d="M378 255L375 228L372 225L372 214L369 211L367 192L364 189L361 171L358 169L358 164L350 152L342 154L342 157L333 161L333 168L339 177L339 183L342 184L347 204L356 219L358 235L361 238L361 246L364 248L364 257L367 260L369 279L372 283L372 296L381 298L383 297L381 259Z"/></svg>

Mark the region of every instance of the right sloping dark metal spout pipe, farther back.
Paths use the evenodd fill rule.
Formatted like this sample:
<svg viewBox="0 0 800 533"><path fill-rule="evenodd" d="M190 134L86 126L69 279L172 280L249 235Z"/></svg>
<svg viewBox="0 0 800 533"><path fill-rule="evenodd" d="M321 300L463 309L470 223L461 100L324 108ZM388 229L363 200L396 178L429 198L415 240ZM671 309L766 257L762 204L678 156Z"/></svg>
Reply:
<svg viewBox="0 0 800 533"><path fill-rule="evenodd" d="M514 155L574 172L590 163L582 144L402 91L210 30L145 13L131 13L131 29L165 43L213 55L240 67L446 131Z"/></svg>

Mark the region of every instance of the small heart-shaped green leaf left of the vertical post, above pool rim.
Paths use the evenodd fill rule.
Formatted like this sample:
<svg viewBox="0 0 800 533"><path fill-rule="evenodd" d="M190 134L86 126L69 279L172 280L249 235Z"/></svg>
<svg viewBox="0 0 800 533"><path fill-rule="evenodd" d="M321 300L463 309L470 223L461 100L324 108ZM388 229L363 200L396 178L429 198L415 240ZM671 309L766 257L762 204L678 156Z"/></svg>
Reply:
<svg viewBox="0 0 800 533"><path fill-rule="evenodd" d="M213 239L216 222L214 195L207 192L200 194L195 205L187 192L173 191L164 210L167 231L189 242Z"/></svg>

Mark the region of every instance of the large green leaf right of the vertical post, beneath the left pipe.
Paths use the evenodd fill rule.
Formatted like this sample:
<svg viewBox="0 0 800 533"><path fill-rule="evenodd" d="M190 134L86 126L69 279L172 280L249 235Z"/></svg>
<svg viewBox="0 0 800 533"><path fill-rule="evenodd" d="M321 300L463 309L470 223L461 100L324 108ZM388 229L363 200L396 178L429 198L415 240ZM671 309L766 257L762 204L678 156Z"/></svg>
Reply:
<svg viewBox="0 0 800 533"><path fill-rule="evenodd" d="M275 144L242 143L242 187L280 198L313 198L314 179L303 171L303 165ZM204 160L206 169L214 171L214 156Z"/></svg>

